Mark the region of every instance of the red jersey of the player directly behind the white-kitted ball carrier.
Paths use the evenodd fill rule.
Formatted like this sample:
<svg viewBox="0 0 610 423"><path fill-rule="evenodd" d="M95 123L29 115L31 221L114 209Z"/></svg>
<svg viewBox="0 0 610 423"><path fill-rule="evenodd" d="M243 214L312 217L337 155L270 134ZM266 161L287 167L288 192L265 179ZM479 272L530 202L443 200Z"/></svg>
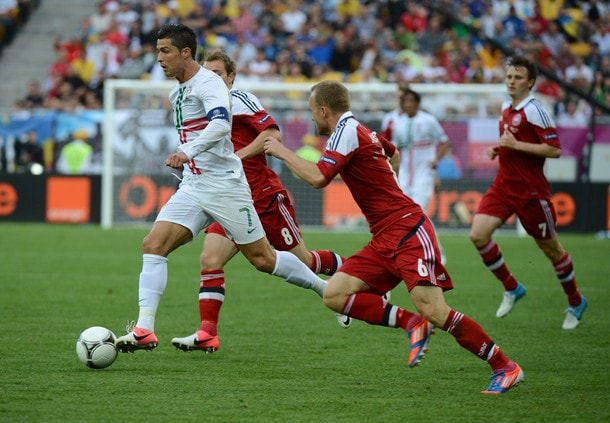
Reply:
<svg viewBox="0 0 610 423"><path fill-rule="evenodd" d="M250 144L265 129L279 128L277 122L263 109L254 94L231 90L231 100L233 112L231 141L235 151ZM252 191L254 207L261 213L267 207L269 198L285 188L277 173L267 167L265 153L243 160L242 164Z"/></svg>

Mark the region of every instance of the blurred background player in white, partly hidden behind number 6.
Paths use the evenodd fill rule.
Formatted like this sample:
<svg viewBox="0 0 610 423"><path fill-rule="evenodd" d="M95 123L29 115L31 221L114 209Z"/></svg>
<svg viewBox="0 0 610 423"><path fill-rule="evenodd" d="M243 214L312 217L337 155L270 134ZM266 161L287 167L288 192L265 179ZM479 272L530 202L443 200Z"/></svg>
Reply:
<svg viewBox="0 0 610 423"><path fill-rule="evenodd" d="M451 144L439 121L420 110L419 93L403 88L398 101L399 109L384 117L381 131L400 151L400 188L426 213L437 183L436 166ZM441 255L445 263L442 247Z"/></svg>

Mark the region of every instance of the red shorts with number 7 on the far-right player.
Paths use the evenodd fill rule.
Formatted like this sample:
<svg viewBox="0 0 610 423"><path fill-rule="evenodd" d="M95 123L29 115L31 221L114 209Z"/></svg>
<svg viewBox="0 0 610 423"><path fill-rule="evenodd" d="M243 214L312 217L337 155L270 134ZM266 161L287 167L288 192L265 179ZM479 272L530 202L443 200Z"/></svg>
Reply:
<svg viewBox="0 0 610 423"><path fill-rule="evenodd" d="M516 214L527 233L536 239L550 239L557 233L557 215L550 198L508 197L492 186L481 199L477 213L502 222Z"/></svg>

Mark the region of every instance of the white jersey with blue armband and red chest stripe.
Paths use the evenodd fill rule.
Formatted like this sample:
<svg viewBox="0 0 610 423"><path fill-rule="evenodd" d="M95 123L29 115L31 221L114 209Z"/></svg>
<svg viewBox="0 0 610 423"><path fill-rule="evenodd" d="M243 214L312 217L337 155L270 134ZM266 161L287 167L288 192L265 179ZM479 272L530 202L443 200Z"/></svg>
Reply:
<svg viewBox="0 0 610 423"><path fill-rule="evenodd" d="M179 149L191 159L183 175L239 176L241 160L231 142L231 100L224 81L203 67L169 94Z"/></svg>

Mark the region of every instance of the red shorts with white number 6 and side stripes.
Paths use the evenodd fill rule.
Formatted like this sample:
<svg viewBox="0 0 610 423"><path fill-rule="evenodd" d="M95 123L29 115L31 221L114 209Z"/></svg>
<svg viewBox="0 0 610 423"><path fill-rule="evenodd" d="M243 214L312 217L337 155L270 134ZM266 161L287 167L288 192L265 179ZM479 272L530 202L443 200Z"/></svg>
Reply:
<svg viewBox="0 0 610 423"><path fill-rule="evenodd" d="M453 288L441 264L441 254L432 223L425 215L411 215L393 223L360 251L349 257L341 272L362 279L378 293L405 281L409 292L417 285Z"/></svg>

